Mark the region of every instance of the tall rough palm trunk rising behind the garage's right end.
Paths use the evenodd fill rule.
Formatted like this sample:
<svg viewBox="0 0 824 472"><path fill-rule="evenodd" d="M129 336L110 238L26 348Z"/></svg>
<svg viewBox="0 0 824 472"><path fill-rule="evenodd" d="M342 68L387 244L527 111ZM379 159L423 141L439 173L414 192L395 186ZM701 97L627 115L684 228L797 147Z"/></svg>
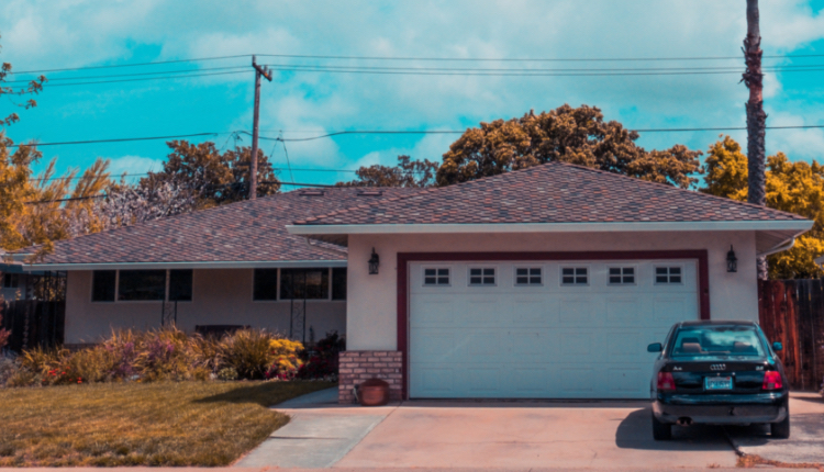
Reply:
<svg viewBox="0 0 824 472"><path fill-rule="evenodd" d="M764 206L766 202L765 165L767 113L764 112L764 72L761 71L761 31L758 0L747 0L747 37L744 38L744 60L747 70L742 81L749 89L747 109L747 201ZM758 279L767 279L767 258L757 260Z"/></svg>

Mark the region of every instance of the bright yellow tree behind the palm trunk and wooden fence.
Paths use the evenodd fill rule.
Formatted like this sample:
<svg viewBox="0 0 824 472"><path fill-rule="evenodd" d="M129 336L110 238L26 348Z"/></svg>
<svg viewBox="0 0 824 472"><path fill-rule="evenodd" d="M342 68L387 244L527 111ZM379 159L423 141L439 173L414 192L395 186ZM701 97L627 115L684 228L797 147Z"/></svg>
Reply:
<svg viewBox="0 0 824 472"><path fill-rule="evenodd" d="M710 146L702 192L747 201L747 157L730 136ZM813 228L792 249L768 258L771 279L824 276L814 259L824 254L824 166L815 160L790 162L778 153L767 158L767 206L813 220Z"/></svg>

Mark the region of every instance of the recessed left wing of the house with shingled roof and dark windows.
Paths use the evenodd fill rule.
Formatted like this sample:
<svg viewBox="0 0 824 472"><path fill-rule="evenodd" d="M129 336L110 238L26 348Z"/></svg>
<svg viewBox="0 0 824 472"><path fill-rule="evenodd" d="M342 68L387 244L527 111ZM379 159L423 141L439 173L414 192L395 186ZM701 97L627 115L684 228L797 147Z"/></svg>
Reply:
<svg viewBox="0 0 824 472"><path fill-rule="evenodd" d="M281 193L57 241L24 269L66 271L70 346L172 322L188 331L255 326L311 342L346 329L346 248L286 225L409 192Z"/></svg>

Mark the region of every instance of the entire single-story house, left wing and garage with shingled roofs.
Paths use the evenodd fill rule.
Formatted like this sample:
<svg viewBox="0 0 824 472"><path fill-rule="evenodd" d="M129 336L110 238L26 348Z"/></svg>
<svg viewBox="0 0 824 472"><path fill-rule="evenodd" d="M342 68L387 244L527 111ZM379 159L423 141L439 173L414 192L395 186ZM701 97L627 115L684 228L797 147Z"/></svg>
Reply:
<svg viewBox="0 0 824 472"><path fill-rule="evenodd" d="M553 162L445 188L289 192L59 243L30 268L69 271L73 340L156 324L160 302L144 299L179 297L178 286L192 288L178 305L186 329L285 330L294 313L285 283L320 268L313 289L287 291L324 297L307 302L315 336L346 334L342 402L371 377L396 398L643 398L646 345L679 321L757 321L756 257L811 226ZM345 302L343 289L322 289L335 268L346 270ZM257 301L263 280L268 303ZM318 304L331 308L313 315Z"/></svg>

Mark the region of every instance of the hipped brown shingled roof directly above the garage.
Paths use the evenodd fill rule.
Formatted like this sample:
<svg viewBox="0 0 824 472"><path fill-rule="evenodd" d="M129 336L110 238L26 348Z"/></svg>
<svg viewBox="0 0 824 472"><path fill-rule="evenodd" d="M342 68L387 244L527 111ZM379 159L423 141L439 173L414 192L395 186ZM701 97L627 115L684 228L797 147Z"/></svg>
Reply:
<svg viewBox="0 0 824 472"><path fill-rule="evenodd" d="M316 214L297 220L294 225L764 221L805 218L662 183L550 162Z"/></svg>

